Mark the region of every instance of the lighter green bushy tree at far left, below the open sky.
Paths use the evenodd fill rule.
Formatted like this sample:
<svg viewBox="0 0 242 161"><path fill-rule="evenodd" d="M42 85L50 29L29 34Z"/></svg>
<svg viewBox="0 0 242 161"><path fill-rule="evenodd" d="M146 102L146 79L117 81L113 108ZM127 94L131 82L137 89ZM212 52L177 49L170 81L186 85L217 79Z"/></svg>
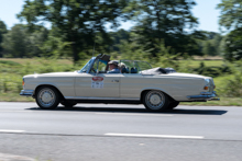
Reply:
<svg viewBox="0 0 242 161"><path fill-rule="evenodd" d="M15 24L3 35L2 47L4 56L23 58L42 56L42 46L47 39L48 31L43 26L35 26L37 30L29 33L23 24Z"/></svg>

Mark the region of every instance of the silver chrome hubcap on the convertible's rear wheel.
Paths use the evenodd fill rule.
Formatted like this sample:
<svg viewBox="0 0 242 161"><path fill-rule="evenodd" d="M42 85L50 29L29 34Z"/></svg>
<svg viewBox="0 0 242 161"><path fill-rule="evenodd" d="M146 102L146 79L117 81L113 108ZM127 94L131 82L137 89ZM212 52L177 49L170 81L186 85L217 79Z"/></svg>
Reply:
<svg viewBox="0 0 242 161"><path fill-rule="evenodd" d="M150 91L145 96L145 103L151 110L161 110L165 104L165 95L158 91Z"/></svg>

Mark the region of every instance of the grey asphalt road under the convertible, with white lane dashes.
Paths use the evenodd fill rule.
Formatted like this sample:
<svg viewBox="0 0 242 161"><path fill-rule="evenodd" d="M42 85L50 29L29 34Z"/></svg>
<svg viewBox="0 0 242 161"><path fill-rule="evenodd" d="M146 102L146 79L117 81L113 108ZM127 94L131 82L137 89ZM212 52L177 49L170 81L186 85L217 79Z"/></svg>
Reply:
<svg viewBox="0 0 242 161"><path fill-rule="evenodd" d="M241 161L242 107L0 103L0 161Z"/></svg>

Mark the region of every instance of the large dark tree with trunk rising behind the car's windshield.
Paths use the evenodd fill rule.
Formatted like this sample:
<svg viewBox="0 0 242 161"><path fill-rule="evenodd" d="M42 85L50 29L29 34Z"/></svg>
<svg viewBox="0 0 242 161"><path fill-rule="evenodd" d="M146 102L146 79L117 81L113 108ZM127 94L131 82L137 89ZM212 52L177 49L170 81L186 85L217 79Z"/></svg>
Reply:
<svg viewBox="0 0 242 161"><path fill-rule="evenodd" d="M76 62L79 53L94 47L98 32L103 42L111 42L105 25L119 26L127 4L128 0L26 0L19 18L28 21L30 30L33 24L51 22L63 42L70 43Z"/></svg>

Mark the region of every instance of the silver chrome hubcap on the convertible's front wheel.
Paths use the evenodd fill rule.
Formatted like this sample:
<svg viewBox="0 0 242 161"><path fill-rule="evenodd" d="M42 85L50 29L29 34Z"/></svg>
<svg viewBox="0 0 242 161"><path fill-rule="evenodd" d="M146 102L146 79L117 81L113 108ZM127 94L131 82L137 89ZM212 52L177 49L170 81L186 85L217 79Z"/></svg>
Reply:
<svg viewBox="0 0 242 161"><path fill-rule="evenodd" d="M43 107L52 107L56 101L56 95L52 89L45 88L38 92L37 100Z"/></svg>

